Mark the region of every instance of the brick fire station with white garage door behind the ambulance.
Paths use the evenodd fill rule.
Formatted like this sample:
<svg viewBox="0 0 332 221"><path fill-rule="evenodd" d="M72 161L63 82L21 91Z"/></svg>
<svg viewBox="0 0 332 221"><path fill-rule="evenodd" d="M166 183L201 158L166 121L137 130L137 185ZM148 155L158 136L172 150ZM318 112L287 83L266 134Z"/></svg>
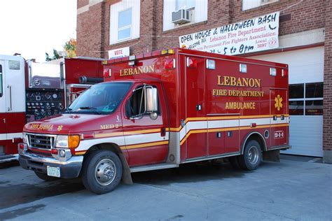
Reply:
<svg viewBox="0 0 332 221"><path fill-rule="evenodd" d="M332 162L331 1L78 0L77 55L179 47L179 36L279 12L279 46L241 56L289 64L291 150ZM174 23L186 9L189 22ZM173 19L173 22L172 22Z"/></svg>

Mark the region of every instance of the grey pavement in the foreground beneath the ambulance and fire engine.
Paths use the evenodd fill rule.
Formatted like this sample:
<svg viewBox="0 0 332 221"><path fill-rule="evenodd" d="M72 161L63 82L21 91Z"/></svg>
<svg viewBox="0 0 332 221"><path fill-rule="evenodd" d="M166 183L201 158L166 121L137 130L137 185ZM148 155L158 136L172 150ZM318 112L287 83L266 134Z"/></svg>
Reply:
<svg viewBox="0 0 332 221"><path fill-rule="evenodd" d="M302 159L302 160L301 160ZM256 171L227 163L134 173L109 194L0 165L0 220L332 220L332 165L283 155Z"/></svg>

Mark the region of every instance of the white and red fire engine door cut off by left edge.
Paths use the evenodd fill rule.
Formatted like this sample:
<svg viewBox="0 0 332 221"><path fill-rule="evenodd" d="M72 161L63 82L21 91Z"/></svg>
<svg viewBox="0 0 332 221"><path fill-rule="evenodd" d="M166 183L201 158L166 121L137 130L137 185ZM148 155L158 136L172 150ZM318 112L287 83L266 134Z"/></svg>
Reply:
<svg viewBox="0 0 332 221"><path fill-rule="evenodd" d="M0 61L0 155L4 153L7 139L6 127L6 90L4 61Z"/></svg>

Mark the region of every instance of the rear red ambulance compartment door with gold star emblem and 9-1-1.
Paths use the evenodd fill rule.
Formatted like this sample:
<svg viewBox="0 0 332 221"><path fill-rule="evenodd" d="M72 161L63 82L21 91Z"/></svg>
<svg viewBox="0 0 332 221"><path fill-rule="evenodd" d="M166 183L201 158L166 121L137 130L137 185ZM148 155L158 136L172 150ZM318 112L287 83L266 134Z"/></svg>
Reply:
<svg viewBox="0 0 332 221"><path fill-rule="evenodd" d="M270 89L270 141L271 148L287 144L288 134L287 90Z"/></svg>

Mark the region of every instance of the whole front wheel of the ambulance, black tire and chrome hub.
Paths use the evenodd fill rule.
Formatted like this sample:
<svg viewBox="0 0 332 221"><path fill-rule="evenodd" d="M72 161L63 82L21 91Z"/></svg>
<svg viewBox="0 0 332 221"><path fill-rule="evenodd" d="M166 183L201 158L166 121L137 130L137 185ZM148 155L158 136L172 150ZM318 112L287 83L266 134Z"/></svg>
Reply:
<svg viewBox="0 0 332 221"><path fill-rule="evenodd" d="M122 164L114 152L97 150L83 163L82 182L87 190L105 194L114 190L122 178Z"/></svg>

